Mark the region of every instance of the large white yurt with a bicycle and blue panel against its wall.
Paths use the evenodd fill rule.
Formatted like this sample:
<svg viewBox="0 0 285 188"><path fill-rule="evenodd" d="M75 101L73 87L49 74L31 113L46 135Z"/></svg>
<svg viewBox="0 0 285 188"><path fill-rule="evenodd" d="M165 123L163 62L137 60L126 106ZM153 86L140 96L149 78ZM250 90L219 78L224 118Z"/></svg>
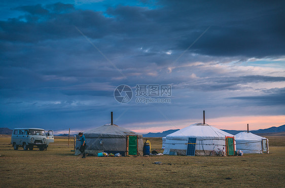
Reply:
<svg viewBox="0 0 285 188"><path fill-rule="evenodd" d="M234 135L204 123L192 124L166 136L165 155L207 156L215 149L235 154Z"/></svg>

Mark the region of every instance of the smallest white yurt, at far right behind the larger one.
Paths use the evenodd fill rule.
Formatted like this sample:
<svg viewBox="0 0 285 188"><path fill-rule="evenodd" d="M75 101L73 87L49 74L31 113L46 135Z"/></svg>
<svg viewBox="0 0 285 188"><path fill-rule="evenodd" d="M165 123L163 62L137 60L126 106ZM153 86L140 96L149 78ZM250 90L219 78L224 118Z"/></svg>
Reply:
<svg viewBox="0 0 285 188"><path fill-rule="evenodd" d="M240 132L235 135L236 149L244 154L269 154L268 139L251 132Z"/></svg>

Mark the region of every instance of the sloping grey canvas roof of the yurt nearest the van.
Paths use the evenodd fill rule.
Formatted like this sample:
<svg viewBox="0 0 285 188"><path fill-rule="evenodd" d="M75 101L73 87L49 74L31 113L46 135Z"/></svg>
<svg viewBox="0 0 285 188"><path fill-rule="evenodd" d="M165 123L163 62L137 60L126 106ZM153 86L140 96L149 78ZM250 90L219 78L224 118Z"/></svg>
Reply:
<svg viewBox="0 0 285 188"><path fill-rule="evenodd" d="M127 135L135 135L138 138L142 138L141 134L111 124L105 124L84 132L85 138L125 138Z"/></svg>

